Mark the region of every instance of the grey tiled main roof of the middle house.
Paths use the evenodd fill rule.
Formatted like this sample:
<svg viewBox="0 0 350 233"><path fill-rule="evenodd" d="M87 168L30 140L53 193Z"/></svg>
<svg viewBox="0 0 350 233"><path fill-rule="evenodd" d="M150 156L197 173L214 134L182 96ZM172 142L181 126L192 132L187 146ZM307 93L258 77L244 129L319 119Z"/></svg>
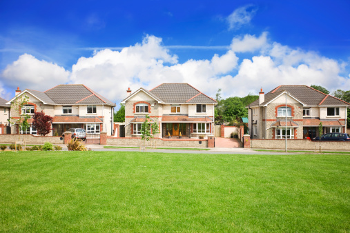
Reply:
<svg viewBox="0 0 350 233"><path fill-rule="evenodd" d="M217 103L188 83L163 83L150 93L166 103Z"/></svg>

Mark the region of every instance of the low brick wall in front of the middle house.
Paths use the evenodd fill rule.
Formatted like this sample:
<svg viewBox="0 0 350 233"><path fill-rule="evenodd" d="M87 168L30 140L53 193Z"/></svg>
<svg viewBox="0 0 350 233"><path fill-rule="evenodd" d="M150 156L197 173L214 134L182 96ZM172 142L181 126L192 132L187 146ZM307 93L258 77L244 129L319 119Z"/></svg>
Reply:
<svg viewBox="0 0 350 233"><path fill-rule="evenodd" d="M143 141L140 137L137 138L107 138L107 145L143 145ZM207 148L208 139L150 139L146 141L146 146L157 147L179 147L179 148Z"/></svg>

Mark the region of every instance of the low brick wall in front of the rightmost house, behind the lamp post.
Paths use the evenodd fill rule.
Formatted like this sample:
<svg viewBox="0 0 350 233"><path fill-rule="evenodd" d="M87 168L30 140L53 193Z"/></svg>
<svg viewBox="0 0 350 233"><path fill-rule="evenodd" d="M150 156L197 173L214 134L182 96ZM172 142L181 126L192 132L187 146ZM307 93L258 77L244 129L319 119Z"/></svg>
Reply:
<svg viewBox="0 0 350 233"><path fill-rule="evenodd" d="M318 150L320 141L305 139L287 140L288 150ZM251 139L251 148L285 149L286 141L283 139ZM350 150L348 141L321 141L322 150Z"/></svg>

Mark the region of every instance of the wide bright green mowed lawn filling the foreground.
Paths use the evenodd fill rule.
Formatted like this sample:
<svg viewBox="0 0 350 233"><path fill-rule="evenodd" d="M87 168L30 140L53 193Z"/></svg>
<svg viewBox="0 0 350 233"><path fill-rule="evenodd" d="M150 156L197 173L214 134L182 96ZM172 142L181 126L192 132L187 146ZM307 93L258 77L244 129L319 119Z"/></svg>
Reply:
<svg viewBox="0 0 350 233"><path fill-rule="evenodd" d="M0 153L0 231L349 232L349 155Z"/></svg>

